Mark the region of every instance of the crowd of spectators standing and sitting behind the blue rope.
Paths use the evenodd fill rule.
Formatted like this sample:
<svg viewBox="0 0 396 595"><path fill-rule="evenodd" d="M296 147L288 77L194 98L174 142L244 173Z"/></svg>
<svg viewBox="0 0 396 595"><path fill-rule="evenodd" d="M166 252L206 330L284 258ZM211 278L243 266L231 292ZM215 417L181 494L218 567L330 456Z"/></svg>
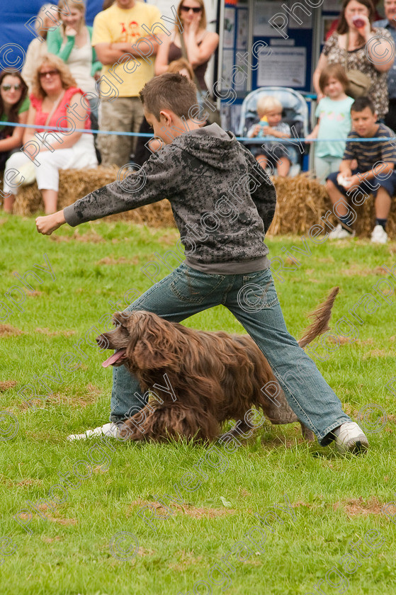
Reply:
<svg viewBox="0 0 396 595"><path fill-rule="evenodd" d="M326 184L332 203L341 205L331 237L353 236L347 199L353 190L370 189L376 215L372 240L385 243L396 184L391 141L396 129L395 52L392 60L388 57L388 47L396 46L396 0L385 0L385 18L380 20L376 4L344 0L313 75L317 124L305 142L315 151L319 183ZM171 30L166 21L171 19L162 19L156 6L137 0L106 0L93 27L86 25L81 0L59 0L40 9L37 37L30 42L22 72L0 73L0 120L31 126L0 122L6 212L12 212L23 184L37 180L49 214L57 208L60 170L98 163L142 165L160 150L160 142L142 136L151 129L139 92L152 77L164 72L188 77L203 108L205 72L219 42L207 28L203 0L181 0ZM279 142L291 138L283 116L281 101L263 93L247 136L263 140L262 145L248 145L261 166L285 177L298 154L291 143ZM202 125L213 121L202 120ZM390 140L359 142L362 137ZM386 179L385 170L381 175L373 171L378 162L385 164Z"/></svg>

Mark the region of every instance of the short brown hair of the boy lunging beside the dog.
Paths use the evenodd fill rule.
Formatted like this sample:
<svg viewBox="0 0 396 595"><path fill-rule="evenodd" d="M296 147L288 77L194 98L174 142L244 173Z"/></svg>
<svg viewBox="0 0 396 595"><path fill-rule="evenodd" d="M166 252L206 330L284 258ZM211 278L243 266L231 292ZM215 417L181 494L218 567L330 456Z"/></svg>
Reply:
<svg viewBox="0 0 396 595"><path fill-rule="evenodd" d="M197 89L193 82L171 72L164 72L148 81L139 96L146 111L152 113L156 120L159 120L159 113L164 109L188 120L188 112L197 104Z"/></svg>

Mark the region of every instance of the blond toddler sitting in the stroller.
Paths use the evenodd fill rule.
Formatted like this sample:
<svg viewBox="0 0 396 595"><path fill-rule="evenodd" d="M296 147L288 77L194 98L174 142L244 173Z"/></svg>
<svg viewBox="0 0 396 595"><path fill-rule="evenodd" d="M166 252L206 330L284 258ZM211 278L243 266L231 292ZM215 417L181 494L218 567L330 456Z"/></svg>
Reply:
<svg viewBox="0 0 396 595"><path fill-rule="evenodd" d="M276 140L278 138L290 138L290 126L282 122L283 107L281 101L272 96L261 96L257 101L257 115L260 118L249 128L247 136L250 138L265 138ZM286 147L279 142L265 142L260 147L255 145L250 149L251 154L256 157L263 169L267 164L273 169L276 167L278 176L285 178L290 170L290 164L297 162L297 152L294 147Z"/></svg>

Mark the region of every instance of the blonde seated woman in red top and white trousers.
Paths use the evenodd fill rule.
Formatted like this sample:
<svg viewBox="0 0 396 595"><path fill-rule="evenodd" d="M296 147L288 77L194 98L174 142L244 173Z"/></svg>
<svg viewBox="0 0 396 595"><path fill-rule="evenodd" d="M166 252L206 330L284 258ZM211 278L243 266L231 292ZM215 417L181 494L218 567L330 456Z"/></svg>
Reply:
<svg viewBox="0 0 396 595"><path fill-rule="evenodd" d="M30 96L28 124L34 128L26 128L21 151L12 154L6 163L4 193L9 193L4 198L6 212L12 212L18 186L23 181L13 176L9 176L7 181L8 170L23 170L24 166L34 162L35 178L43 196L45 212L50 214L57 210L59 170L97 166L94 137L90 132L76 130L91 128L89 109L86 108L83 95L60 58L52 55L43 58L36 71L33 94ZM53 129L46 130L43 126L52 126ZM60 128L68 130L60 132Z"/></svg>

